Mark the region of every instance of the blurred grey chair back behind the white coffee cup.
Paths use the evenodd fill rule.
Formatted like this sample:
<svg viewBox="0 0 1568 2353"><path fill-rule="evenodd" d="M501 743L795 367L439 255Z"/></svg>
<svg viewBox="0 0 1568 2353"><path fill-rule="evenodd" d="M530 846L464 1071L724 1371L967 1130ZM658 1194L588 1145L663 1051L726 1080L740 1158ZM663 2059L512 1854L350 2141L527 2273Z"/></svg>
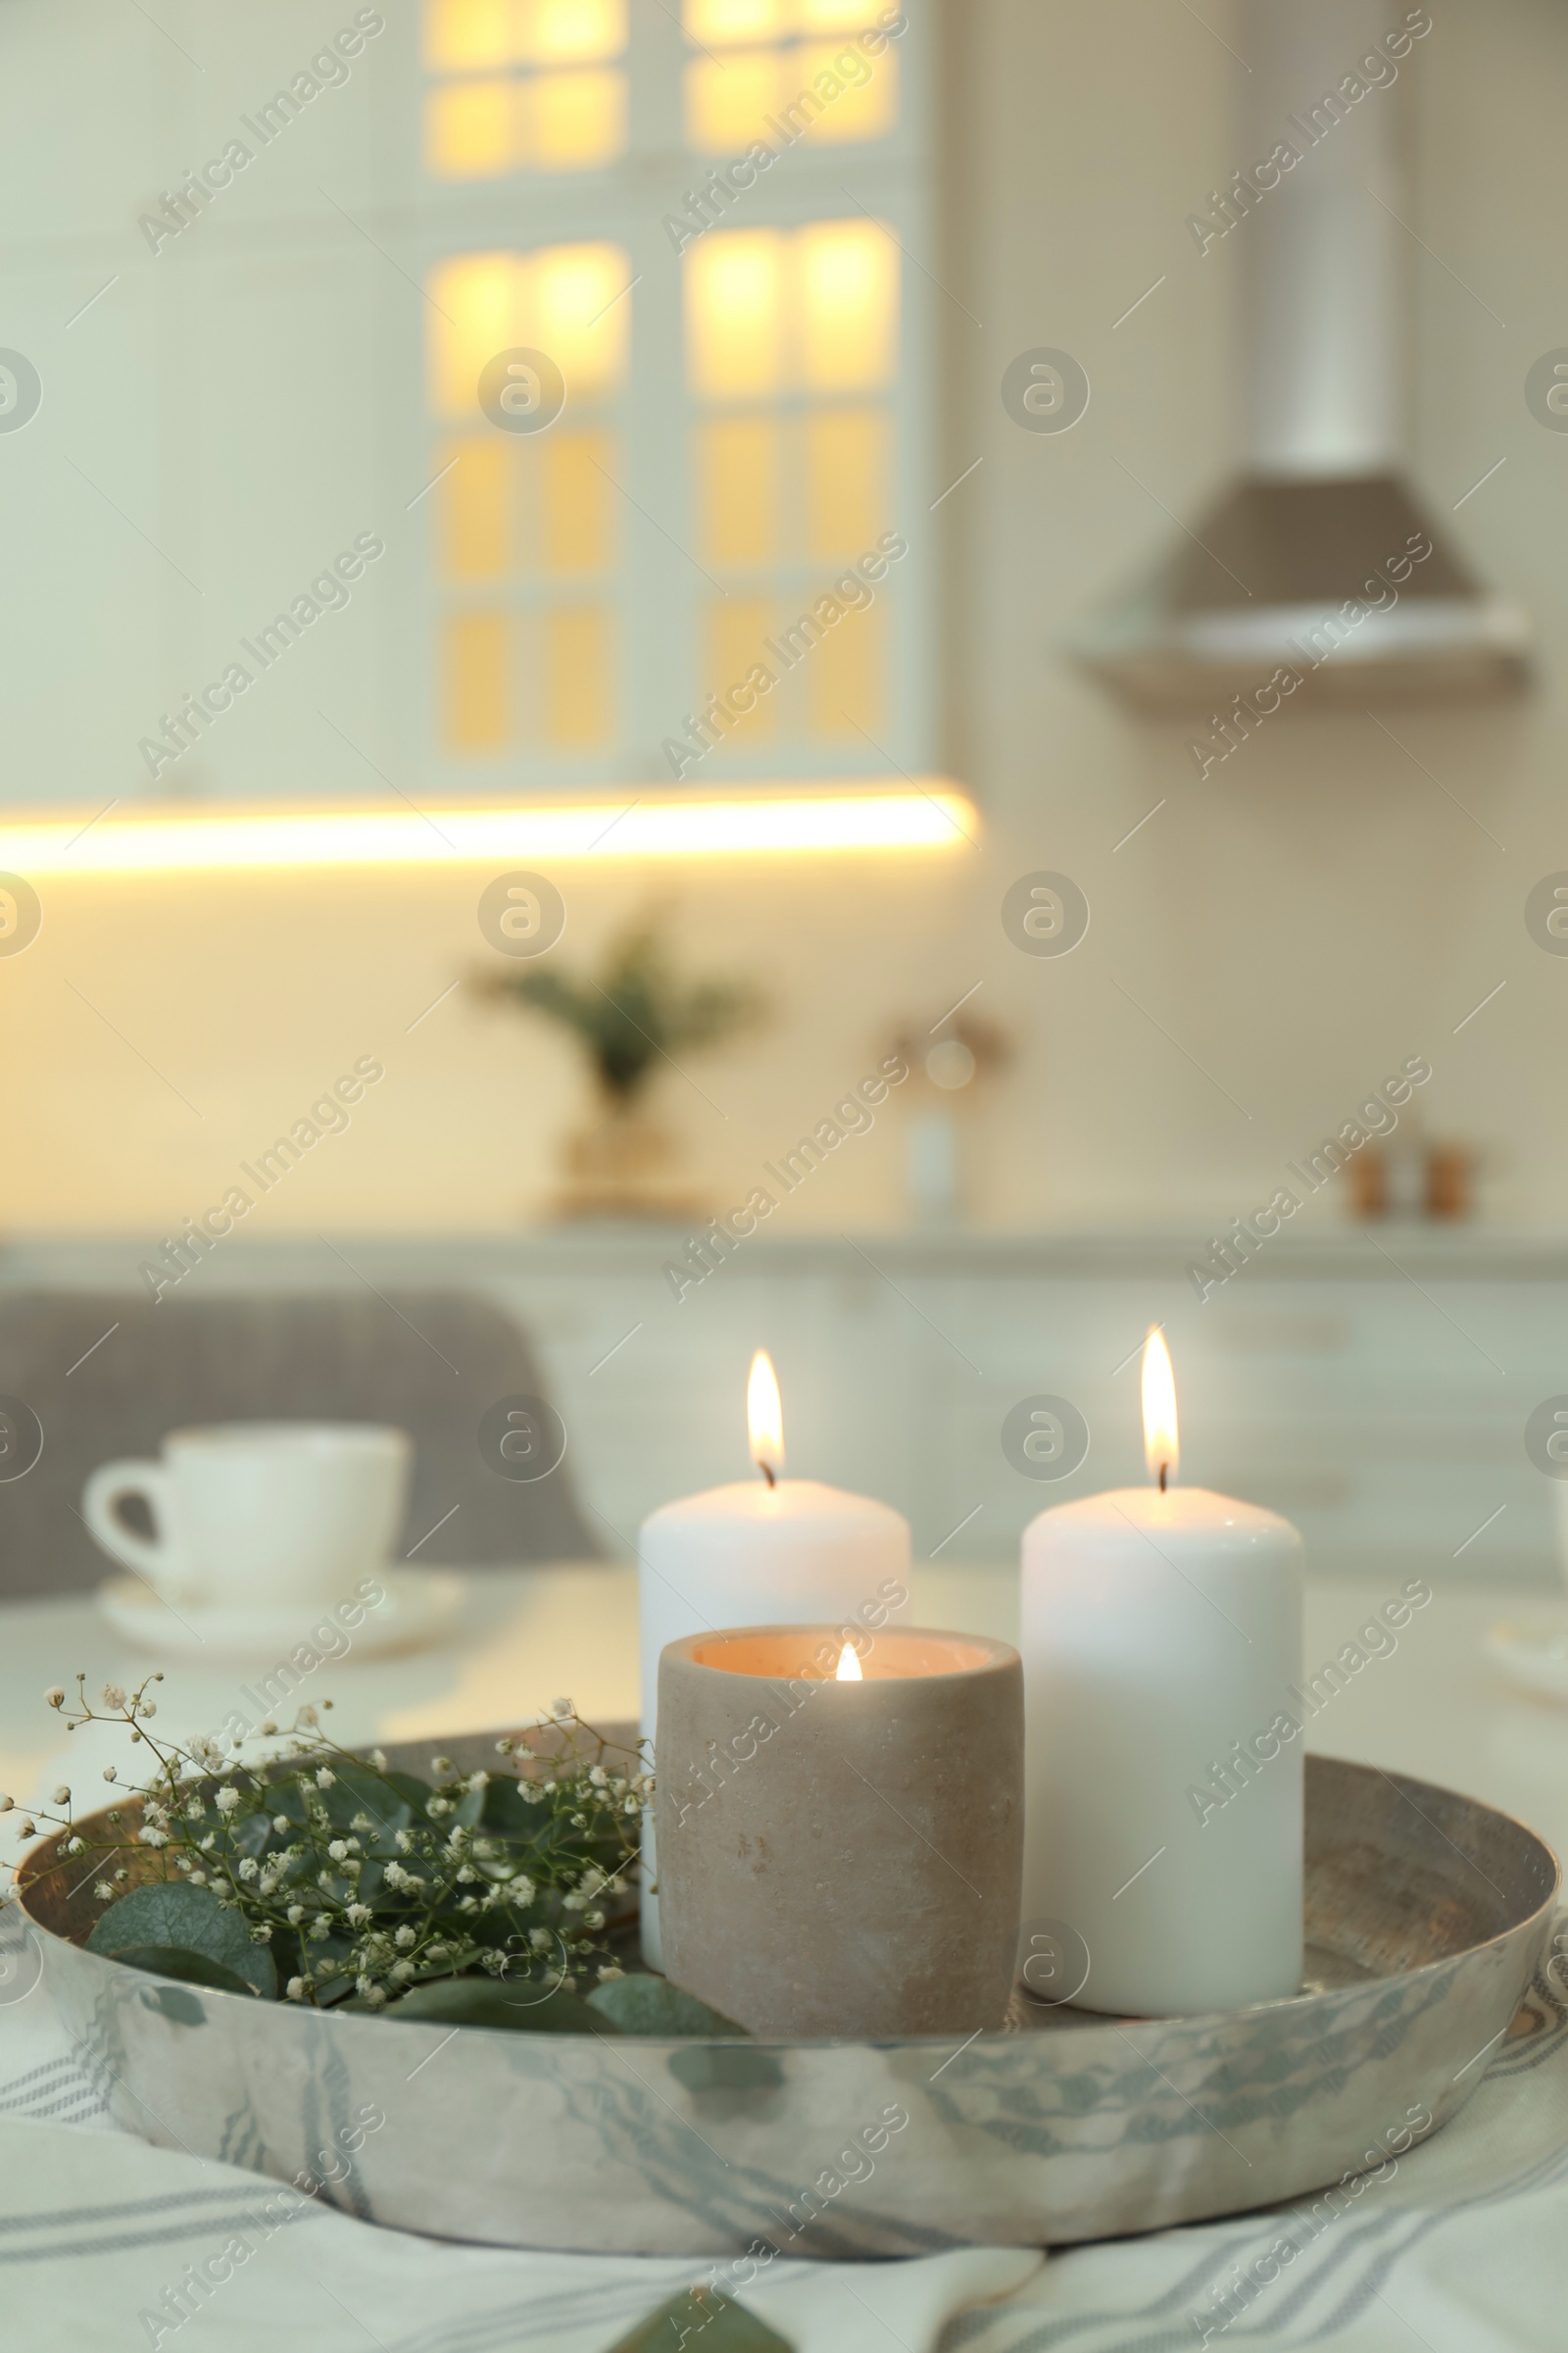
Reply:
<svg viewBox="0 0 1568 2353"><path fill-rule="evenodd" d="M0 1595L71 1593L113 1574L80 1518L87 1473L118 1454L155 1457L167 1431L209 1421L409 1431L414 1480L397 1558L409 1546L416 1562L461 1567L595 1558L604 1548L564 1461L512 1480L480 1452L489 1407L543 1393L527 1334L461 1292L0 1297L0 1400L21 1400L45 1440L21 1478L7 1478L0 1459Z"/></svg>

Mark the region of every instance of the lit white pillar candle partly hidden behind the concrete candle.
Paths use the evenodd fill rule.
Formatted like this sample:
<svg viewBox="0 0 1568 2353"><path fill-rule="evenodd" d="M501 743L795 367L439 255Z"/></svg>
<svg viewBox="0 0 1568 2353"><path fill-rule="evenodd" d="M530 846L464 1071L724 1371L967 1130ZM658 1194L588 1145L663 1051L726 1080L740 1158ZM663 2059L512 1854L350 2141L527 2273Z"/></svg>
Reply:
<svg viewBox="0 0 1568 2353"><path fill-rule="evenodd" d="M757 1478L663 1504L637 1537L642 1737L654 1744L665 1642L731 1626L823 1621L872 1640L910 1607L910 1522L903 1513L818 1480L783 1478L783 1409L764 1351L752 1358L745 1405ZM651 1817L642 1859L642 1951L658 1967Z"/></svg>

